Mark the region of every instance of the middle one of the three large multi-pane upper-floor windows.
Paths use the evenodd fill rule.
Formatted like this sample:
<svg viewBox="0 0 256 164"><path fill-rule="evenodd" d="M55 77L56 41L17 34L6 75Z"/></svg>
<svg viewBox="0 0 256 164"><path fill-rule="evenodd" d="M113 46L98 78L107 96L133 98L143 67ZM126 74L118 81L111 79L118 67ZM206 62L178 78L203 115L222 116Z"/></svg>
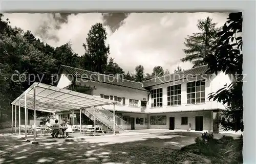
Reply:
<svg viewBox="0 0 256 164"><path fill-rule="evenodd" d="M181 84L167 87L167 106L181 105Z"/></svg>

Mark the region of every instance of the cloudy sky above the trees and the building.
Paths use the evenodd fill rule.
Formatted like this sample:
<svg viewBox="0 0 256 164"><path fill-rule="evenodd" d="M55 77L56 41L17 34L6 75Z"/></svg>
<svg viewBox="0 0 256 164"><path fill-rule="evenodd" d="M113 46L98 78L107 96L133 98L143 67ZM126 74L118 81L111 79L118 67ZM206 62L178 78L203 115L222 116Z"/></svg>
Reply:
<svg viewBox="0 0 256 164"><path fill-rule="evenodd" d="M191 64L182 63L184 40L187 35L198 32L197 20L207 16L224 25L227 13L131 13L131 14L4 14L12 26L30 30L44 42L59 46L71 41L79 56L84 53L82 43L88 31L97 22L102 22L108 32L110 57L115 59L125 72L134 72L143 65L146 73L154 66L162 66L173 72L179 64L188 69Z"/></svg>

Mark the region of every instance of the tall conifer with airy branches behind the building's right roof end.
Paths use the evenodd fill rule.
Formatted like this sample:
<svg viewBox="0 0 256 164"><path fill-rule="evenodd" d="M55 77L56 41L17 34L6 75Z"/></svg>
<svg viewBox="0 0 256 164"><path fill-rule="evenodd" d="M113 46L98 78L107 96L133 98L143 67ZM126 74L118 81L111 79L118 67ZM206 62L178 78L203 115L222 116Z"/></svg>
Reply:
<svg viewBox="0 0 256 164"><path fill-rule="evenodd" d="M218 42L216 34L220 31L220 28L216 28L216 25L209 17L198 20L197 28L201 32L193 33L193 35L188 35L185 38L184 44L187 49L183 50L186 56L181 59L182 62L190 61L194 64L193 67L207 64L203 59L215 52L214 47Z"/></svg>

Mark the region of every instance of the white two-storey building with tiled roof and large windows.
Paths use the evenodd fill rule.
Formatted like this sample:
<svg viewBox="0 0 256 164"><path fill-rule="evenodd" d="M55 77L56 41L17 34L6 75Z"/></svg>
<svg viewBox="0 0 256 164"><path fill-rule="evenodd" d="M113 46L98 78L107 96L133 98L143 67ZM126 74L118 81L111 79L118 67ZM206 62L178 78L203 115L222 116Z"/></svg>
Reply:
<svg viewBox="0 0 256 164"><path fill-rule="evenodd" d="M209 101L208 94L230 84L231 79L222 72L216 76L207 75L206 71L207 65L138 83L61 65L57 87L117 101L115 118L119 130L124 130L119 125L127 122L127 129L188 130L190 127L191 130L218 133L216 118L225 106ZM94 114L87 110L83 117L92 122ZM112 106L98 108L97 124L111 129L113 124L108 122L113 119L112 111ZM69 114L56 113L58 119L69 119ZM84 120L87 121L83 124L90 122Z"/></svg>

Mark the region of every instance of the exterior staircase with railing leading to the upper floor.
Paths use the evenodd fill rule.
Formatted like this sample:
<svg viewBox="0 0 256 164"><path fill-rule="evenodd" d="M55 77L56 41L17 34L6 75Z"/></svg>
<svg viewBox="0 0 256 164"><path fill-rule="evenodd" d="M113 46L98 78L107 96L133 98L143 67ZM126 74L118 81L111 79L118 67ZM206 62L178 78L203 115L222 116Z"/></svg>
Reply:
<svg viewBox="0 0 256 164"><path fill-rule="evenodd" d="M82 110L82 113L86 114L86 116L88 116L92 121L94 121L95 114L95 121L97 125L103 125L105 128L113 131L113 113L109 110L96 108L94 113L94 108L86 108ZM127 122L119 118L117 115L115 115L115 131L127 131Z"/></svg>

